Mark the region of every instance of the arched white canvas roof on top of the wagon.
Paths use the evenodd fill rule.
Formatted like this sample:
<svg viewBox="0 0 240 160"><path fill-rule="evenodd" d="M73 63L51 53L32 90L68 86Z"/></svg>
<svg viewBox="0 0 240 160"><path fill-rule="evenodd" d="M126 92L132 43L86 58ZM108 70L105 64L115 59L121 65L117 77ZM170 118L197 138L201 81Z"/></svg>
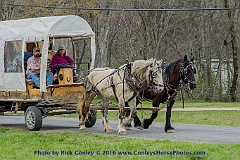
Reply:
<svg viewBox="0 0 240 160"><path fill-rule="evenodd" d="M1 40L13 40L27 38L34 41L35 38L47 36L91 36L90 25L81 17L52 16L21 20L9 20L0 22Z"/></svg>

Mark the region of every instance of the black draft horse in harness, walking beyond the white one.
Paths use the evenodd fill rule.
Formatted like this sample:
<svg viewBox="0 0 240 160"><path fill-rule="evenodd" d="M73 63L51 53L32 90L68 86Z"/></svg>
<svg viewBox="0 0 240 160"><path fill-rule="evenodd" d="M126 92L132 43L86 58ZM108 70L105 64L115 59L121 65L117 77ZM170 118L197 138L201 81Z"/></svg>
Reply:
<svg viewBox="0 0 240 160"><path fill-rule="evenodd" d="M145 99L152 100L152 106L159 107L160 103L167 104L165 132L172 133L175 129L171 125L171 112L175 103L175 98L181 89L182 85L189 87L191 90L196 88L195 75L196 68L193 58L188 60L185 55L183 59L176 60L167 65L163 71L164 90L162 92L154 92L151 89L146 89L141 92L141 96ZM137 102L139 103L139 102ZM138 116L134 117L134 126L137 128L148 129L155 118L158 116L158 111L153 111L149 119L144 119L143 123Z"/></svg>

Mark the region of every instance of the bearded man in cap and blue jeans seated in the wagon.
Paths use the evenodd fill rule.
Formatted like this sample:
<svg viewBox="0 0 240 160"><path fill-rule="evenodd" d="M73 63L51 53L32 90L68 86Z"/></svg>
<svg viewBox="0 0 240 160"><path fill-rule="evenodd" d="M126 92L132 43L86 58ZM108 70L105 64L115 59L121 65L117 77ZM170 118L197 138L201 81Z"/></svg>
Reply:
<svg viewBox="0 0 240 160"><path fill-rule="evenodd" d="M41 52L39 47L33 48L33 56L27 61L27 78L32 79L33 83L40 88L40 66L41 66ZM47 86L52 85L53 75L47 71Z"/></svg>

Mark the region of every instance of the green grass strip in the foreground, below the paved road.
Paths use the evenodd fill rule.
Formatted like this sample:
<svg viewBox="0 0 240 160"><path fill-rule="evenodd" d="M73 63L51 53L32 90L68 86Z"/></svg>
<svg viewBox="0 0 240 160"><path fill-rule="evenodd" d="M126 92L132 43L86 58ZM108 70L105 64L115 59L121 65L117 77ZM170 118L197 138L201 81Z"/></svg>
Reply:
<svg viewBox="0 0 240 160"><path fill-rule="evenodd" d="M147 140L72 132L29 132L1 127L0 137L0 159L8 160L240 159L240 144L172 142L169 140ZM93 153L92 156L86 155L86 153L90 154L90 152ZM155 153L155 155L150 155L150 152Z"/></svg>

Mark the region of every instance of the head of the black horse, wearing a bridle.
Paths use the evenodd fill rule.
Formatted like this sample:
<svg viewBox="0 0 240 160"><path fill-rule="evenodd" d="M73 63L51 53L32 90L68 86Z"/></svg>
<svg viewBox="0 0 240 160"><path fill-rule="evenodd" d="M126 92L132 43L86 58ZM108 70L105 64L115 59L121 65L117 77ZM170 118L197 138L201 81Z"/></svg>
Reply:
<svg viewBox="0 0 240 160"><path fill-rule="evenodd" d="M191 90L197 86L195 83L196 68L193 60L193 58L188 60L187 56L185 55L184 62L180 68L181 79L183 80L184 84L189 86Z"/></svg>

